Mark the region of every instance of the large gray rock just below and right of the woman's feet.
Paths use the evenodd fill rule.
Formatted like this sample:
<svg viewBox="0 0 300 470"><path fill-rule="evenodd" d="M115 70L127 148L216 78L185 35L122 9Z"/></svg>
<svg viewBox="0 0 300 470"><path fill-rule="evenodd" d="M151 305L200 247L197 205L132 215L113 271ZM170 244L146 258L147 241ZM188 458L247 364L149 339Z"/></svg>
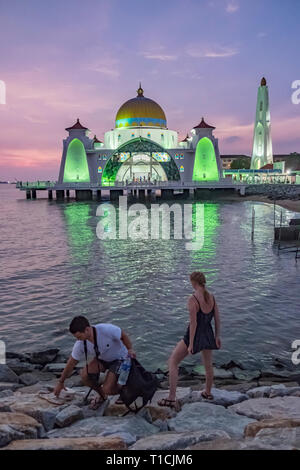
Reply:
<svg viewBox="0 0 300 470"><path fill-rule="evenodd" d="M176 432L225 431L231 437L241 437L247 424L253 421L239 416L230 408L198 402L185 404L177 416L168 421L168 426L171 431Z"/></svg>

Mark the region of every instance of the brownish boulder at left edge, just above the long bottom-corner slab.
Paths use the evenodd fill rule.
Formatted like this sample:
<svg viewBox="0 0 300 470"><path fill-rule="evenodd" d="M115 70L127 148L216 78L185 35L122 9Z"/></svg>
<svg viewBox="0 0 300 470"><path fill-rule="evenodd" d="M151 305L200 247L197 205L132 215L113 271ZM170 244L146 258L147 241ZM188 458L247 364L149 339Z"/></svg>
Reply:
<svg viewBox="0 0 300 470"><path fill-rule="evenodd" d="M0 413L0 447L14 439L36 439L43 435L42 426L23 413Z"/></svg>

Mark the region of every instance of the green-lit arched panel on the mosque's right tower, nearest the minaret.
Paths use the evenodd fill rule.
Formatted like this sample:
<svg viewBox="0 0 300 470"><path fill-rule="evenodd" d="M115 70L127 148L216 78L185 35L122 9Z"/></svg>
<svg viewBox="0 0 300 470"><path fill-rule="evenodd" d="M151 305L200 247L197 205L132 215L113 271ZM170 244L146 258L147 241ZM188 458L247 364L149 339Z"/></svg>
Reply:
<svg viewBox="0 0 300 470"><path fill-rule="evenodd" d="M203 137L196 147L193 181L218 180L219 171L213 143L207 137Z"/></svg>

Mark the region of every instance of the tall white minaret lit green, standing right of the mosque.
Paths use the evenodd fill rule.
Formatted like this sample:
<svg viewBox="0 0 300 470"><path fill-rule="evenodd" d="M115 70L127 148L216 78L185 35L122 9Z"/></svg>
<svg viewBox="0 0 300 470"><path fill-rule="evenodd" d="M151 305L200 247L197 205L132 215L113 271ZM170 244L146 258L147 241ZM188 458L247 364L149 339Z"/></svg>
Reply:
<svg viewBox="0 0 300 470"><path fill-rule="evenodd" d="M261 79L257 92L256 117L253 135L251 169L259 170L273 163L269 91L265 77Z"/></svg>

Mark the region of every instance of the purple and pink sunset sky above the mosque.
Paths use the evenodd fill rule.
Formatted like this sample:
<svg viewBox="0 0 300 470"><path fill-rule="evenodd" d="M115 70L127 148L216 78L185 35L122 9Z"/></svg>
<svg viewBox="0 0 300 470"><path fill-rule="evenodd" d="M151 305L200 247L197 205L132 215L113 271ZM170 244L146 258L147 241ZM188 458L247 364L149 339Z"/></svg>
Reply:
<svg viewBox="0 0 300 470"><path fill-rule="evenodd" d="M250 155L265 76L273 152L299 152L299 56L299 0L0 0L0 180L57 179L65 127L103 140L139 81L181 138L204 116Z"/></svg>

